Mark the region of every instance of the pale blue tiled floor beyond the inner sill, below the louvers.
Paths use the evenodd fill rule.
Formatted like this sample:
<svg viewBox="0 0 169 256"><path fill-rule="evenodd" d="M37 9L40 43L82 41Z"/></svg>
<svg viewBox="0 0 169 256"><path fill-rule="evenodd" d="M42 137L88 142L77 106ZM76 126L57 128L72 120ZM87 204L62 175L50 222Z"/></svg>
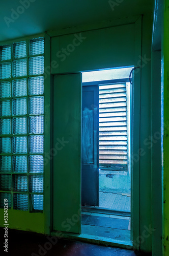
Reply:
<svg viewBox="0 0 169 256"><path fill-rule="evenodd" d="M130 212L130 194L99 193L99 207Z"/></svg>

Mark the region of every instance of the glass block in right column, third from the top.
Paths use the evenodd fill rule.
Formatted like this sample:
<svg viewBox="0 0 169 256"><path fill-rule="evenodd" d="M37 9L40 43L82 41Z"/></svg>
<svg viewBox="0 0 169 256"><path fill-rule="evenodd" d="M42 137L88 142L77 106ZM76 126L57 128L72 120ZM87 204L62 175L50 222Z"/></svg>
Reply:
<svg viewBox="0 0 169 256"><path fill-rule="evenodd" d="M29 80L29 95L43 94L44 91L44 77L30 77Z"/></svg>

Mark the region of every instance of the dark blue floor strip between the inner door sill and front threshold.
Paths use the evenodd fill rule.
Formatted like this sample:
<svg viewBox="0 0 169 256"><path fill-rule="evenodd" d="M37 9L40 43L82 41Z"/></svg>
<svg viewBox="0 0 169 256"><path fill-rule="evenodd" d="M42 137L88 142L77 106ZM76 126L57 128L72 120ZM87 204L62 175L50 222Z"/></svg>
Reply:
<svg viewBox="0 0 169 256"><path fill-rule="evenodd" d="M81 224L130 230L130 217L82 212Z"/></svg>

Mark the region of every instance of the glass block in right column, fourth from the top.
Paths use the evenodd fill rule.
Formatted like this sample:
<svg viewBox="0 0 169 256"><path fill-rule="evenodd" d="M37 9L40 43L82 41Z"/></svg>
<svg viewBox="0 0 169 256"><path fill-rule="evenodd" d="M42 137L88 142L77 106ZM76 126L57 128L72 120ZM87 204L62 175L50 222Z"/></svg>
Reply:
<svg viewBox="0 0 169 256"><path fill-rule="evenodd" d="M43 96L39 97L30 97L29 98L29 114L39 115L44 112L44 98Z"/></svg>

